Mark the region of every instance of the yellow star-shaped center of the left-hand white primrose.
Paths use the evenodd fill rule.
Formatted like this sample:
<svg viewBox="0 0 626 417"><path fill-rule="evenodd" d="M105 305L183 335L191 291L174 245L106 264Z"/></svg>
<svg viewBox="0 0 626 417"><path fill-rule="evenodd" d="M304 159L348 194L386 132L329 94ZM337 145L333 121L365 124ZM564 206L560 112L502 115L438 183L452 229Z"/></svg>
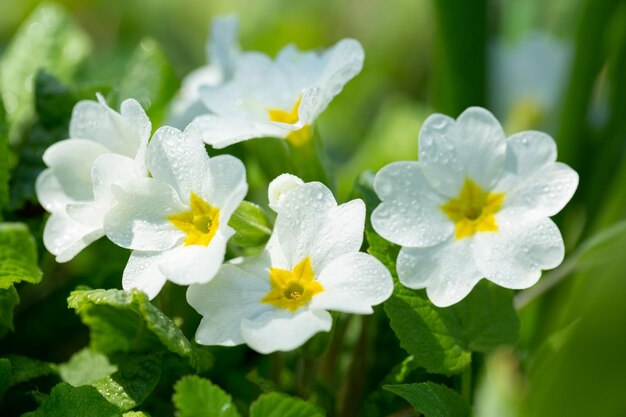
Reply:
<svg viewBox="0 0 626 417"><path fill-rule="evenodd" d="M219 226L220 211L193 192L189 201L191 211L173 214L167 220L187 234L185 245L209 246Z"/></svg>

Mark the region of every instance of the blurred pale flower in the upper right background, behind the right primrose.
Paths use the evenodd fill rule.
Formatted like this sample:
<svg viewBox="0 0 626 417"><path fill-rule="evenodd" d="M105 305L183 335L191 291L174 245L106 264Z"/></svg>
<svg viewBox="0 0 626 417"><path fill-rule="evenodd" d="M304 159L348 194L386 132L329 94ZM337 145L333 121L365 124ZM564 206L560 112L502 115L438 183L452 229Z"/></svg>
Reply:
<svg viewBox="0 0 626 417"><path fill-rule="evenodd" d="M515 44L498 39L489 52L489 99L496 116L512 132L546 127L568 79L571 45L534 32Z"/></svg>

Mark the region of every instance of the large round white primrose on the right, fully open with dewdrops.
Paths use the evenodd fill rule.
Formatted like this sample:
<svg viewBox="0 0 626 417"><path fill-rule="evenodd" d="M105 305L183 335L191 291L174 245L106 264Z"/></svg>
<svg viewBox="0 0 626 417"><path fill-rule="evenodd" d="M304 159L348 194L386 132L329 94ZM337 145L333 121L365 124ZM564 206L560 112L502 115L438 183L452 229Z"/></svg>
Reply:
<svg viewBox="0 0 626 417"><path fill-rule="evenodd" d="M578 175L556 161L547 134L506 138L491 113L470 108L454 119L435 114L422 126L419 161L381 169L374 189L382 203L374 230L402 246L400 282L426 288L445 307L481 278L506 288L537 282L563 260L550 216L570 200Z"/></svg>

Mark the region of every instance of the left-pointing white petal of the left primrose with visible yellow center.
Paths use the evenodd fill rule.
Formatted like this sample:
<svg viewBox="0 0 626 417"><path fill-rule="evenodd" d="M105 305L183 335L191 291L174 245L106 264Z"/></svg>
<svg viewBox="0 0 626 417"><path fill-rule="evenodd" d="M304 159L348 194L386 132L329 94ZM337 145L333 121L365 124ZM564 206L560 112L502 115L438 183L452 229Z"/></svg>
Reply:
<svg viewBox="0 0 626 417"><path fill-rule="evenodd" d="M188 211L169 185L152 178L112 187L117 204L104 218L104 230L115 244L128 249L158 251L176 245L184 233L168 216Z"/></svg>

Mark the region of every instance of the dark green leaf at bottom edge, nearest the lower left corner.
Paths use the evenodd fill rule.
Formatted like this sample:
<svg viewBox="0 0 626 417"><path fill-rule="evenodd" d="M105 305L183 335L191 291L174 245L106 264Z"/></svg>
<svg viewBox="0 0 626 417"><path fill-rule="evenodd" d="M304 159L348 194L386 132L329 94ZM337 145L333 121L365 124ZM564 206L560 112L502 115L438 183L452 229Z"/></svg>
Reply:
<svg viewBox="0 0 626 417"><path fill-rule="evenodd" d="M73 387L62 382L29 417L121 417L122 412L92 386Z"/></svg>

